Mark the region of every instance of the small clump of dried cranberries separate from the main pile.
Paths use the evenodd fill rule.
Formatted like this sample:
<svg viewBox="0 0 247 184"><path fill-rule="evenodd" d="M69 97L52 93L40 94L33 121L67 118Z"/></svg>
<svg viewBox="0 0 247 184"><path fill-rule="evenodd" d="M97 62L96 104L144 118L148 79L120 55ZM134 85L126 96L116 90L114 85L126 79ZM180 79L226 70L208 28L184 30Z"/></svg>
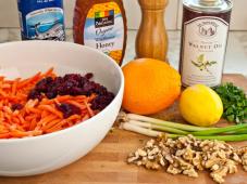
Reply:
<svg viewBox="0 0 247 184"><path fill-rule="evenodd" d="M81 108L76 107L75 105L62 103L61 105L57 106L60 111L63 113L64 118L69 118L72 115L81 115Z"/></svg>

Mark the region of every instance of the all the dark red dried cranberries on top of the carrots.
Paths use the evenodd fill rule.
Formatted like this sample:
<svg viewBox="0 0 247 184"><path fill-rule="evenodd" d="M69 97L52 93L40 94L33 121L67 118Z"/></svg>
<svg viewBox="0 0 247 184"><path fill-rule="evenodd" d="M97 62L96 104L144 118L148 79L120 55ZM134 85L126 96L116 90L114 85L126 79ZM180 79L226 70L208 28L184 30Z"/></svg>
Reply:
<svg viewBox="0 0 247 184"><path fill-rule="evenodd" d="M97 94L97 97L91 102L92 109L103 109L114 98L114 94L110 93L103 86L91 81L94 77L91 73L81 76L78 74L67 74L64 77L45 78L40 80L34 90L29 92L28 98L41 100L44 94L48 98L54 98L57 95L91 95ZM61 107L64 116L71 116L74 107L63 105ZM65 113L69 111L69 113ZM74 110L77 111L78 110Z"/></svg>

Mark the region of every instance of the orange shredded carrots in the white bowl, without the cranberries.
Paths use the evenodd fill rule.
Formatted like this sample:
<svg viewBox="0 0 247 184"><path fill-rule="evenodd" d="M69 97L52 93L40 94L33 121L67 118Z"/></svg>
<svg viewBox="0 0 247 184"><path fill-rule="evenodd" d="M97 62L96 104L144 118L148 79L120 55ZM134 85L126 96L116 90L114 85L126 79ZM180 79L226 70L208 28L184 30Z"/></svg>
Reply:
<svg viewBox="0 0 247 184"><path fill-rule="evenodd" d="M95 94L28 100L30 90L46 77L57 77L53 68L27 79L7 80L0 76L0 139L22 139L52 133L81 123L97 114L90 108ZM58 105L62 103L78 107L82 114L64 119L63 113L58 109Z"/></svg>

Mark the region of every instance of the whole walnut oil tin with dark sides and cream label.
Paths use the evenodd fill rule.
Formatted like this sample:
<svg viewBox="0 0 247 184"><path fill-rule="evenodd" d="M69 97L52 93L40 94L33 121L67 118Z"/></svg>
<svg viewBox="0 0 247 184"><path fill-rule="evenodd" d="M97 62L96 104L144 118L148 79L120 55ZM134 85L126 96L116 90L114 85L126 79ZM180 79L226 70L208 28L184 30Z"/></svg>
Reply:
<svg viewBox="0 0 247 184"><path fill-rule="evenodd" d="M184 0L183 6L182 83L217 87L222 80L232 1Z"/></svg>

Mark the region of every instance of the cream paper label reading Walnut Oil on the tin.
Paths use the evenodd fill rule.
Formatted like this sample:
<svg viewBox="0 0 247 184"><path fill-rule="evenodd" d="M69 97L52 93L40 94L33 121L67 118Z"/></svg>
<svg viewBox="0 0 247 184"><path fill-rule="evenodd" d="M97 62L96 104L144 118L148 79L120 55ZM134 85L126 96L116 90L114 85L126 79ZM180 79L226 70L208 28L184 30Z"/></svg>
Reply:
<svg viewBox="0 0 247 184"><path fill-rule="evenodd" d="M221 83L229 23L214 16L192 19L184 25L182 82L184 86Z"/></svg>

